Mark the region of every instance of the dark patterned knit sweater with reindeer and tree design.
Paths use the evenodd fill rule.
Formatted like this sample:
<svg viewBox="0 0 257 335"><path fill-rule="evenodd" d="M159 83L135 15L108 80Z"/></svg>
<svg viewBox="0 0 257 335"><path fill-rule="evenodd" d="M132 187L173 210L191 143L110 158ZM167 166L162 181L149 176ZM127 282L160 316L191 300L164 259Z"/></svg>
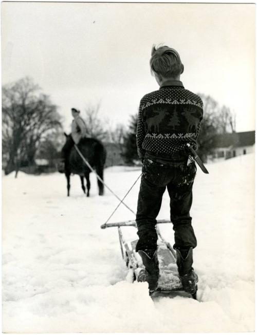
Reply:
<svg viewBox="0 0 257 335"><path fill-rule="evenodd" d="M172 81L146 94L140 101L137 124L137 150L140 159L146 151L158 157L185 153L186 143L195 149L203 119L203 101Z"/></svg>

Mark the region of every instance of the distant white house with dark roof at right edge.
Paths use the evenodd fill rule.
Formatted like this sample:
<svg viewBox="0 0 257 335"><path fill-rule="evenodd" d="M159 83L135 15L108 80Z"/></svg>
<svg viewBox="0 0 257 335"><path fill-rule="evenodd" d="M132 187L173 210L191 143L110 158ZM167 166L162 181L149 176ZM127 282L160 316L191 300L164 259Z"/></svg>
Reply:
<svg viewBox="0 0 257 335"><path fill-rule="evenodd" d="M214 153L212 160L228 159L246 155L255 150L255 131L221 134L214 138Z"/></svg>

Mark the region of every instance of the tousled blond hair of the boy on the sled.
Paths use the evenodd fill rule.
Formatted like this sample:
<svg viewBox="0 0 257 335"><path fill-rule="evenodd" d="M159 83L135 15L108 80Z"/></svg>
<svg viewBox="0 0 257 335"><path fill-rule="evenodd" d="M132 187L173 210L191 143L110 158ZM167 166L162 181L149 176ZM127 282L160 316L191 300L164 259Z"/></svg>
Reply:
<svg viewBox="0 0 257 335"><path fill-rule="evenodd" d="M183 72L178 52L166 45L152 47L151 72L164 78L175 78Z"/></svg>

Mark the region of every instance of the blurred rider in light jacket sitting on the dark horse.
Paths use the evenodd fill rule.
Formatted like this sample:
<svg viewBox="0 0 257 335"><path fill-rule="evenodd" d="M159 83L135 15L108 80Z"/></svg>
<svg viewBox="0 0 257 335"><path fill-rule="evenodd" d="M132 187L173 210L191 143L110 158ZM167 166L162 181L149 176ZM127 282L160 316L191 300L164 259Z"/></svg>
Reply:
<svg viewBox="0 0 257 335"><path fill-rule="evenodd" d="M65 166L68 165L69 153L74 143L78 144L81 138L86 137L86 124L80 117L80 111L76 108L71 108L71 115L74 118L71 123L71 136L67 137L61 152L62 162L64 162Z"/></svg>

